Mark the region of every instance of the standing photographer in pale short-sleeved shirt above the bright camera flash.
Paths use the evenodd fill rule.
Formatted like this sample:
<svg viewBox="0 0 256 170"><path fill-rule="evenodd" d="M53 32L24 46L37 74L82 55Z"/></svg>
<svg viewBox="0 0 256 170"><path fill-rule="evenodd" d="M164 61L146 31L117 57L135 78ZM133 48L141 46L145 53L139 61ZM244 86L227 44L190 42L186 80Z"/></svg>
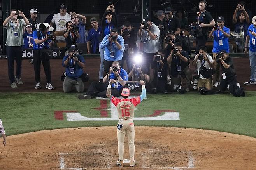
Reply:
<svg viewBox="0 0 256 170"><path fill-rule="evenodd" d="M145 26L145 28L144 28ZM140 29L137 32L137 36L140 37L140 40L143 45L143 61L145 67L149 68L150 63L153 61L153 57L157 54L160 44L159 44L159 28L149 17L143 19L142 24L140 24ZM146 73L150 77L153 77L153 72Z"/></svg>

